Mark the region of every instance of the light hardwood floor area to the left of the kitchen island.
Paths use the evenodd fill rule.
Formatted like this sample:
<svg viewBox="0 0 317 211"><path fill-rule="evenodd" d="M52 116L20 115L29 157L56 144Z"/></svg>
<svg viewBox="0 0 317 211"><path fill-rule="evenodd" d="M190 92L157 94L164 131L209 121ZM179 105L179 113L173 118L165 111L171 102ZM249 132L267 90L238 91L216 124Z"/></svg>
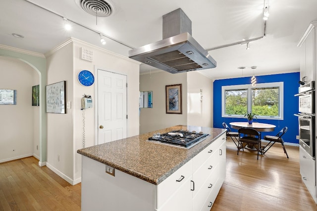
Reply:
<svg viewBox="0 0 317 211"><path fill-rule="evenodd" d="M0 164L0 211L80 211L81 184L38 163L28 157Z"/></svg>

